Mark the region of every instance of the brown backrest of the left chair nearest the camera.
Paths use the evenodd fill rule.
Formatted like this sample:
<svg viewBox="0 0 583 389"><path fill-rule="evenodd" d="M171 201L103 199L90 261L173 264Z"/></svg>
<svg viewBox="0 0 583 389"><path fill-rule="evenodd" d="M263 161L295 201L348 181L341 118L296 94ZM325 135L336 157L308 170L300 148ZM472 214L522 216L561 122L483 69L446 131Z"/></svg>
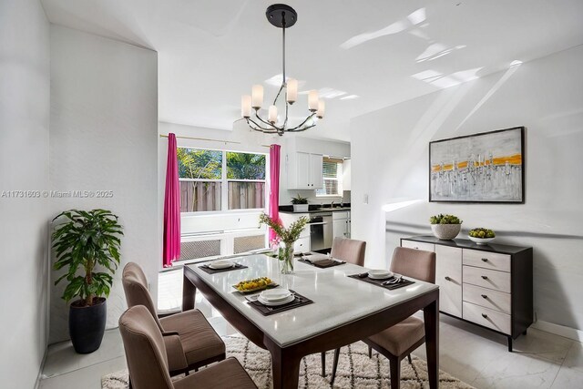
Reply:
<svg viewBox="0 0 583 389"><path fill-rule="evenodd" d="M133 389L171 389L168 357L162 333L148 309L131 307L119 318Z"/></svg>

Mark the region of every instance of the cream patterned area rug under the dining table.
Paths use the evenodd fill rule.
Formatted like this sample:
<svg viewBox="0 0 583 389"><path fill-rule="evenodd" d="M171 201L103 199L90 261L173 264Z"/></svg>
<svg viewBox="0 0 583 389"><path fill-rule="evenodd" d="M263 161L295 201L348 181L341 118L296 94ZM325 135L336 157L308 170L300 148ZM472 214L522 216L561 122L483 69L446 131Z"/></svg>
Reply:
<svg viewBox="0 0 583 389"><path fill-rule="evenodd" d="M227 345L227 356L236 357L251 375L260 389L270 389L271 356L267 351L257 347L246 338L224 337ZM326 376L322 377L320 354L308 355L302 359L300 366L300 388L320 389L330 388L332 375L332 352L326 354ZM107 374L101 378L102 389L128 388L128 370ZM389 361L376 352L373 358L368 357L368 347L362 342L353 343L341 349L338 361L338 371L334 380L334 388L390 388ZM401 387L403 389L428 388L427 364L413 357L413 364L406 359L401 363ZM439 372L439 387L445 389L473 389L472 386L446 374Z"/></svg>

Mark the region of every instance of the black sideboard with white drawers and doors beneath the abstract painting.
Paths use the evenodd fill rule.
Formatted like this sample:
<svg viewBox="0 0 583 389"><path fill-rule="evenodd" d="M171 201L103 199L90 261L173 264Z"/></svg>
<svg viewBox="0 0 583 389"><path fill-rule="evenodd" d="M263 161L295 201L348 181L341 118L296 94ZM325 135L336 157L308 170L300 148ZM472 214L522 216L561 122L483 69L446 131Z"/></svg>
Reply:
<svg viewBox="0 0 583 389"><path fill-rule="evenodd" d="M533 322L531 247L433 236L403 238L402 247L435 251L435 283L439 310L506 335L512 340Z"/></svg>

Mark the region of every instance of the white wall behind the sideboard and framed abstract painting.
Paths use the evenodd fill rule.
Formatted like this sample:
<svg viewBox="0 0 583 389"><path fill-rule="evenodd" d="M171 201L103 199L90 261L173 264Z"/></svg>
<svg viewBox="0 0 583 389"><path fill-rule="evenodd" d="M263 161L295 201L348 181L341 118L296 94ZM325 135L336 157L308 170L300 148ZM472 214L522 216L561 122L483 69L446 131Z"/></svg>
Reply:
<svg viewBox="0 0 583 389"><path fill-rule="evenodd" d="M399 238L430 234L428 218L454 213L534 248L538 319L583 329L583 46L386 107L351 123L353 237L368 266L387 266ZM526 126L526 203L428 203L428 142ZM368 194L369 204L363 204ZM419 200L392 212L388 203ZM385 231L386 223L386 231Z"/></svg>

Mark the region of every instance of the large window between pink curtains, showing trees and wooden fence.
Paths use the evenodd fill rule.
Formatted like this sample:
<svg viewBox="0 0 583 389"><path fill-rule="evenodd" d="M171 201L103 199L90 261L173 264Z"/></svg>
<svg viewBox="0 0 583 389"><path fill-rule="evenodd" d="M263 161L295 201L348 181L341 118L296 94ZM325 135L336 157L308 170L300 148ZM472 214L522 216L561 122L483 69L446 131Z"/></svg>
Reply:
<svg viewBox="0 0 583 389"><path fill-rule="evenodd" d="M180 211L265 208L265 154L178 148Z"/></svg>

